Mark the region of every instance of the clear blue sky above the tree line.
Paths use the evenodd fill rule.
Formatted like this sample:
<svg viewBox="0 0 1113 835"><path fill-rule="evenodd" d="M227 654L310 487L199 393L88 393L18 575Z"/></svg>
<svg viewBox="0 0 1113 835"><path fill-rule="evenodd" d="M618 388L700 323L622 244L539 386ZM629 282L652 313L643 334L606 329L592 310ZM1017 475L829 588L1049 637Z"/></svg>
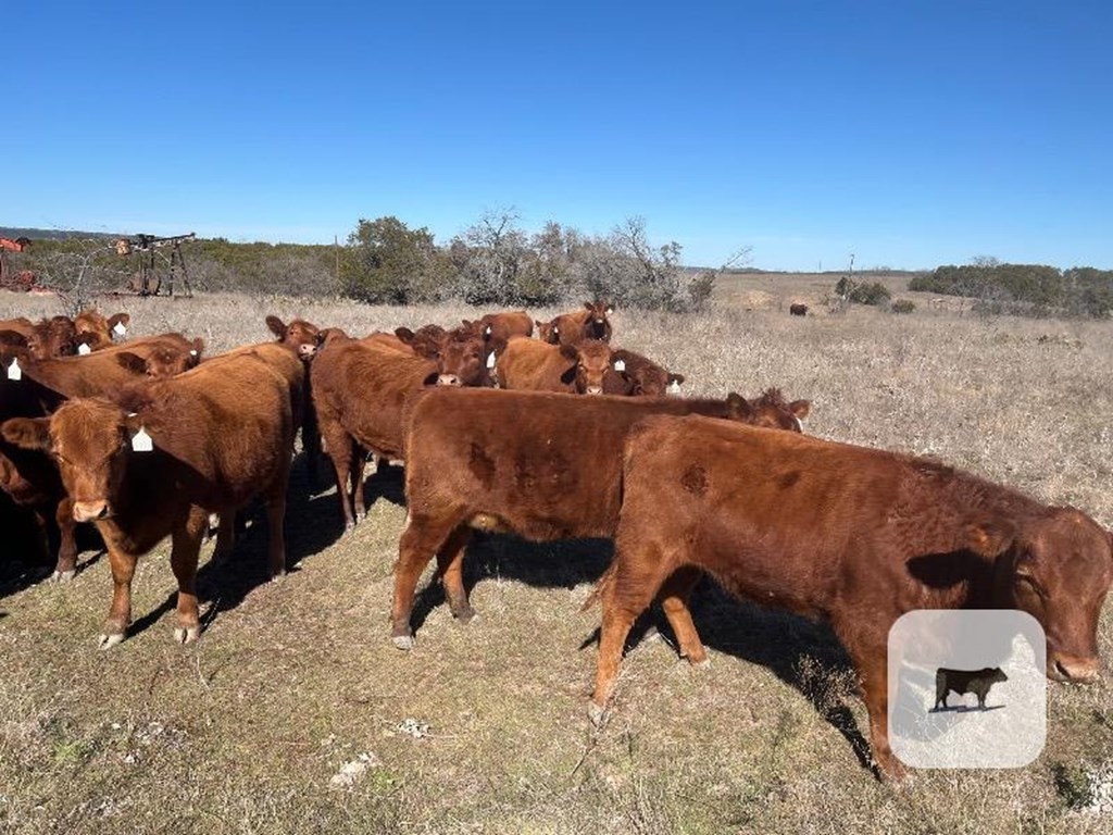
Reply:
<svg viewBox="0 0 1113 835"><path fill-rule="evenodd" d="M0 225L1113 267L1110 0L250 6L9 3Z"/></svg>

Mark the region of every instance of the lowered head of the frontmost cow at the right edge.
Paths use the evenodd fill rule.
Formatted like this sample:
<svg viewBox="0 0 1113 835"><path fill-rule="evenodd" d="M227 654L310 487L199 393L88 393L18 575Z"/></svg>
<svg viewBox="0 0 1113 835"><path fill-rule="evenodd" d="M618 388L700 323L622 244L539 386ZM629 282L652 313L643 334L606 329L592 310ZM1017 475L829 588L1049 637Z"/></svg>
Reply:
<svg viewBox="0 0 1113 835"><path fill-rule="evenodd" d="M1113 534L1074 508L1012 522L975 523L973 550L994 558L998 602L1040 621L1047 677L1093 681L1097 619L1113 583Z"/></svg>

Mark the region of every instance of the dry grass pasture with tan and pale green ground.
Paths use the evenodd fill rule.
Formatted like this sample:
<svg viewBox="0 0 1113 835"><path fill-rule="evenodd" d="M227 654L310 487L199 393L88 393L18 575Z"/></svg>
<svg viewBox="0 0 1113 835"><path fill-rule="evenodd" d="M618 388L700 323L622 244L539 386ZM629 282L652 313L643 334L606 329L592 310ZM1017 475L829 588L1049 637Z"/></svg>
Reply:
<svg viewBox="0 0 1113 835"><path fill-rule="evenodd" d="M1113 525L1113 323L983 320L915 294L906 316L788 315L790 301L821 308L826 285L739 277L707 315L618 311L614 342L686 374L688 394L777 385L811 400L812 434L936 455ZM750 295L765 301L739 302ZM3 294L0 317L55 304ZM353 333L474 314L236 296L101 308L130 312L136 334L204 336L210 353L267 338L268 313ZM881 785L856 756L865 710L830 633L705 581L693 613L710 666L642 640L595 733L599 611L580 606L604 544L483 538L467 566L480 617L455 623L429 587L404 654L387 626L400 471L370 480L368 517L346 534L334 488L309 484L303 461L293 479L290 573L266 582L265 525L227 567L208 564L209 543L205 630L187 647L171 640L167 547L140 560L128 639L100 652L102 554L51 584L0 544L0 831L1113 832L1107 684L1048 684L1047 745L1026 768Z"/></svg>

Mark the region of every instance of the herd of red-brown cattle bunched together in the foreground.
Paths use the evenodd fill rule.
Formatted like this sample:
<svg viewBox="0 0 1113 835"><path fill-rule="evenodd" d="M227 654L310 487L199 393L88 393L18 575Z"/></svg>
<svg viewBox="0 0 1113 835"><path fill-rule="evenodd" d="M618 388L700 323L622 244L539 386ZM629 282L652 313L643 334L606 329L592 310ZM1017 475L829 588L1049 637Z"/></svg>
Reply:
<svg viewBox="0 0 1113 835"><path fill-rule="evenodd" d="M57 578L75 571L75 525L104 539L114 593L99 641L124 639L137 559L169 536L175 637L199 632L198 552L214 559L260 498L272 576L285 570L286 485L301 430L311 472L327 455L346 525L365 514L368 458L405 466L408 515L391 632L435 557L452 613L473 530L536 541L609 538L590 602L602 629L590 714L601 721L633 620L660 601L690 662L706 659L688 609L703 572L726 590L830 623L861 680L875 762L888 743L886 640L904 612L1017 608L1047 636L1047 675L1096 678L1113 533L1073 508L908 455L802 434L807 401L778 390L688 399L683 377L611 345L609 308L548 323L495 313L354 338L268 316L276 340L203 358L200 340L119 342L127 314L0 322L0 487L57 520ZM533 336L534 325L541 338ZM583 396L595 395L595 396Z"/></svg>

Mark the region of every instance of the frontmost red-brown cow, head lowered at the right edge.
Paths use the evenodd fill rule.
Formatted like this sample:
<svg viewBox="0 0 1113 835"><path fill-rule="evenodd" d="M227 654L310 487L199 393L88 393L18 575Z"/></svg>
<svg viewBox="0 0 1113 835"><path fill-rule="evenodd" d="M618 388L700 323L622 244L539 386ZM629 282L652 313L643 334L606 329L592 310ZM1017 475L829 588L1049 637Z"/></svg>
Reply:
<svg viewBox="0 0 1113 835"><path fill-rule="evenodd" d="M687 607L700 571L831 625L863 682L874 758L892 776L903 767L888 741L886 647L904 612L1022 609L1047 633L1051 678L1096 677L1113 534L1073 508L925 459L702 418L636 429L622 489L600 583L597 720L630 625L654 597L680 655L706 657Z"/></svg>

